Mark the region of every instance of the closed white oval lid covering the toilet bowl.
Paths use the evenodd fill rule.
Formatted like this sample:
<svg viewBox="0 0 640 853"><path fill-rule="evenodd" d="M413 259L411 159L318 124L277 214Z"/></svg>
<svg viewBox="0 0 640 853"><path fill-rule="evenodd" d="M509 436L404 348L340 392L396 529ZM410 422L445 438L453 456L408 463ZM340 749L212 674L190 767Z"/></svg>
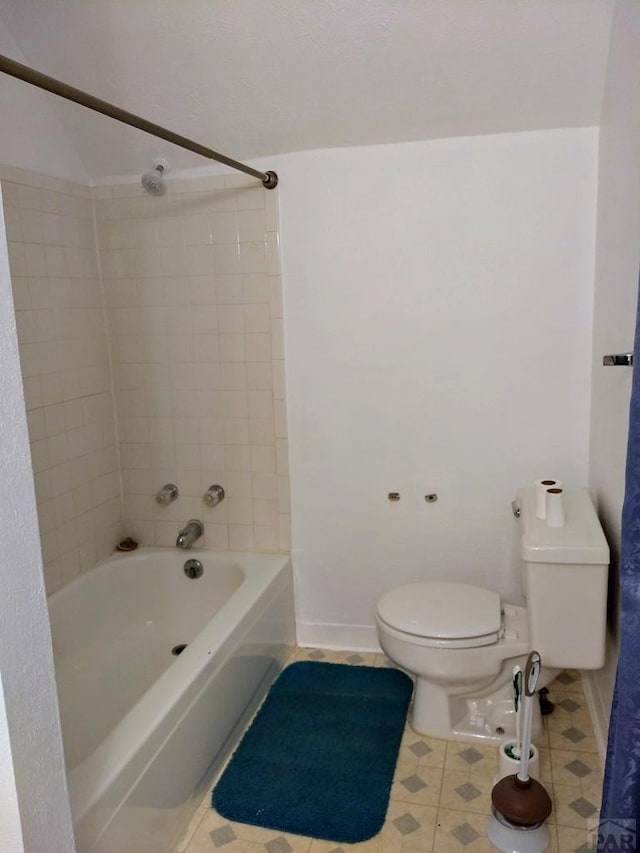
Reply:
<svg viewBox="0 0 640 853"><path fill-rule="evenodd" d="M466 583L421 581L385 593L378 616L399 631L418 637L456 640L500 630L500 596Z"/></svg>

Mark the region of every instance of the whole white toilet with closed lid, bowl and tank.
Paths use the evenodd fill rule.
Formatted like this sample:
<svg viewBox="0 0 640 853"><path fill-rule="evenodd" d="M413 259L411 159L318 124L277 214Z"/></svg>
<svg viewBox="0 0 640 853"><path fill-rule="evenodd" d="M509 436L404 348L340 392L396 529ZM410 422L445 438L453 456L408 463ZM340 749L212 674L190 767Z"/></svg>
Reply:
<svg viewBox="0 0 640 853"><path fill-rule="evenodd" d="M559 669L604 665L609 547L589 493L564 490L564 527L536 517L535 487L518 491L526 607L483 587L418 581L378 601L378 639L415 675L411 723L426 735L495 741L515 734L515 664L537 649L538 689ZM535 703L533 737L540 727Z"/></svg>

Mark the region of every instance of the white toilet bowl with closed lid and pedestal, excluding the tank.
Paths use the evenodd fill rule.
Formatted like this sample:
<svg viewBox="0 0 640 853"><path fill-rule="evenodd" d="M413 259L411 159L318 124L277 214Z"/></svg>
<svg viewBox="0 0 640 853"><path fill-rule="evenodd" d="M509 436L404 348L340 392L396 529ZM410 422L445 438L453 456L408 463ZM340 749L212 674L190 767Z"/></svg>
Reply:
<svg viewBox="0 0 640 853"><path fill-rule="evenodd" d="M530 647L523 607L502 608L500 596L482 587L423 581L384 595L376 624L387 657L415 676L416 731L496 743L515 733L512 670Z"/></svg>

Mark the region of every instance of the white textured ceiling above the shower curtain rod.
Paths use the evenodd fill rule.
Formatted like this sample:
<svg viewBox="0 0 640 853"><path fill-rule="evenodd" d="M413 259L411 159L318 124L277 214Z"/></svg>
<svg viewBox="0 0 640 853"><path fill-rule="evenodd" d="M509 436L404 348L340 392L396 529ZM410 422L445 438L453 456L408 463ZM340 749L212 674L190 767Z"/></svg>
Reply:
<svg viewBox="0 0 640 853"><path fill-rule="evenodd" d="M597 125L614 2L0 0L0 22L14 58L251 159ZM90 177L205 162L49 97Z"/></svg>

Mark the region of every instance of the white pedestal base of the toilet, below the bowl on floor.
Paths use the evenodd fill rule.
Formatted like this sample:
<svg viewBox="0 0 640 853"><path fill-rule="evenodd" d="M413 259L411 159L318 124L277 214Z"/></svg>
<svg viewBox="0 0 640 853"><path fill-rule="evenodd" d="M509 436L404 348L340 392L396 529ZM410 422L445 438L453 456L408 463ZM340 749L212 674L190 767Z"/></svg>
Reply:
<svg viewBox="0 0 640 853"><path fill-rule="evenodd" d="M532 738L542 731L537 702L533 703ZM452 696L419 676L413 695L410 723L418 733L467 743L495 743L516 734L511 684L482 697Z"/></svg>

